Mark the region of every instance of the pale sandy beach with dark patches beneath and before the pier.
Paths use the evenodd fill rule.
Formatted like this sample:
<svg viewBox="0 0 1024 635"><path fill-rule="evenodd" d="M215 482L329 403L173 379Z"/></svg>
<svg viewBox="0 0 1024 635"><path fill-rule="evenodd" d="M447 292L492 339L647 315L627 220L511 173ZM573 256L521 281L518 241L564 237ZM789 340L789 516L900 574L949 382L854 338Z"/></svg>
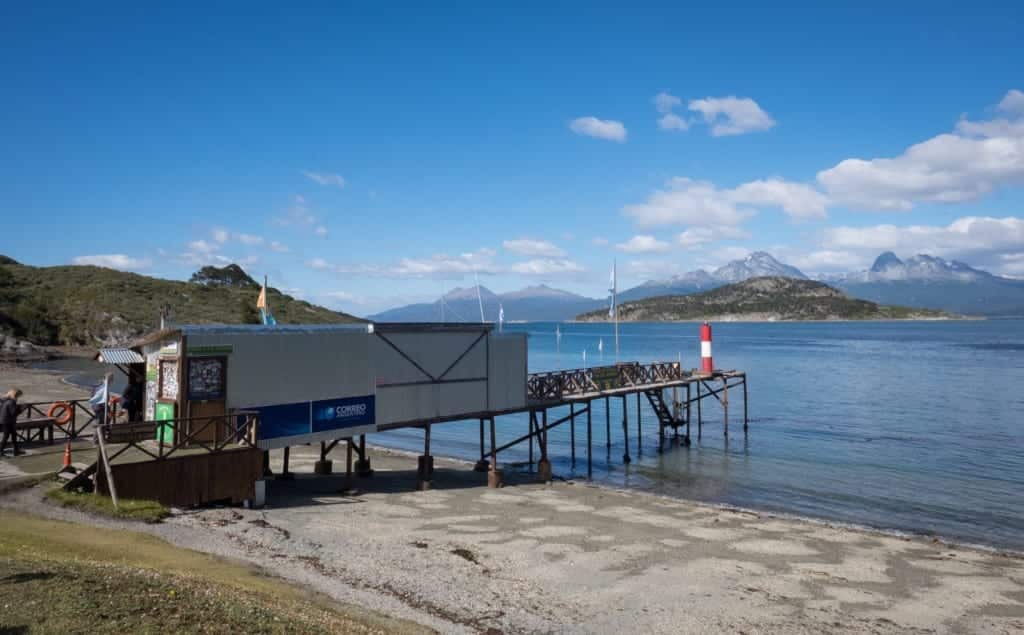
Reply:
<svg viewBox="0 0 1024 635"><path fill-rule="evenodd" d="M56 375L0 370L0 386L15 384L29 399L73 392ZM416 492L415 459L382 451L343 496L341 476L312 475L315 458L295 449L296 479L270 481L262 510L139 525L52 507L41 485L0 498L0 516L130 527L441 632L1024 630L1018 554L521 472L490 490L439 458L434 489Z"/></svg>

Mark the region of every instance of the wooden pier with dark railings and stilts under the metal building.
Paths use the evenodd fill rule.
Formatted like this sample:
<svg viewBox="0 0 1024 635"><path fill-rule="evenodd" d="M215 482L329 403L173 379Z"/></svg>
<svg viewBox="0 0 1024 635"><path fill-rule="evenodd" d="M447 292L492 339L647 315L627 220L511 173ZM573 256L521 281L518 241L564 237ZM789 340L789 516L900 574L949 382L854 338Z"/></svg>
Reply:
<svg viewBox="0 0 1024 635"><path fill-rule="evenodd" d="M502 484L502 453L522 443L527 446L528 464L530 468L536 466L538 478L550 480L549 434L551 430L566 425L569 430L569 460L575 466L578 440L585 441L587 475L590 477L593 475L595 436L602 436L606 450L610 452L613 423L622 426L623 463L629 464L633 460L631 429L635 429L636 452L642 452L644 400L650 406L656 419L657 447L662 451L669 439L678 447L689 447L694 427L697 438L701 437L707 414L705 403L708 399L721 406L722 431L728 437L730 392L736 394L737 390L742 391L741 424L745 434L750 421L746 374L725 370L700 373L684 370L678 363L625 363L534 373L526 378L527 398L524 407L464 413L422 423L389 424L381 426L379 431L403 428L423 430L423 455L419 457L417 473L419 488L424 490L430 488L433 474L431 428L466 420L479 422L479 457L475 469L487 473L487 483L490 486ZM612 406L615 399L622 404L622 420L613 422ZM106 471L101 469L105 464L112 468L111 475L116 481L126 483L123 485L125 495L189 506L221 498L236 502L248 500L254 492L253 483L269 475L267 454L255 443L260 425L256 413L231 412L216 417L97 426L84 401L71 404L73 419L69 425L60 427L61 435L72 440L81 436L86 429L93 430L93 435L98 431L106 441L110 454L105 461L97 455L97 460L89 467L88 473L74 479L69 488L83 484L84 478L95 475L96 491L108 493L109 477ZM33 404L27 415L44 416L48 412L48 406L49 404ZM562 412L564 409L568 412ZM552 411L556 410L559 412L553 414ZM509 415L526 415L526 429L512 440L499 444L497 420ZM600 430L602 418L603 433ZM633 422L635 428L631 425ZM595 423L598 424L597 435ZM578 425L584 426L580 430L581 439L578 439ZM161 429L171 431L166 442L165 437L158 433ZM98 436L95 438L98 440ZM366 434L321 442L321 460L315 471L324 474L332 471L328 455L342 441L346 443L346 476L351 479L372 475ZM283 452L283 469L275 476L290 478L290 450L286 447Z"/></svg>

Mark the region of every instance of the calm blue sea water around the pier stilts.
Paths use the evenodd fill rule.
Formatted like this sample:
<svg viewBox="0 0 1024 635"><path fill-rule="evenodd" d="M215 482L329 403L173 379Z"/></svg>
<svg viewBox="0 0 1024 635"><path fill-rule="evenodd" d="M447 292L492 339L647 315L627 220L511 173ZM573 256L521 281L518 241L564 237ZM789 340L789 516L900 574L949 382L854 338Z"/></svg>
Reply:
<svg viewBox="0 0 1024 635"><path fill-rule="evenodd" d="M509 325L529 334L531 371L613 359L609 325ZM594 407L594 478L682 498L786 512L1024 550L1024 321L717 324L716 366L746 371L751 427L731 394L731 437L722 410L706 400L702 438L657 452L657 425L643 400L636 437L629 399L630 454L624 466L621 399L611 405L606 449L603 401ZM620 327L623 361L698 365L697 326ZM563 409L566 410L567 409ZM549 419L554 420L554 413ZM498 420L499 443L526 430L524 416ZM475 459L477 422L435 426L437 455ZM419 451L422 432L376 442ZM586 476L586 429L550 434L556 474ZM526 460L526 448L501 463Z"/></svg>

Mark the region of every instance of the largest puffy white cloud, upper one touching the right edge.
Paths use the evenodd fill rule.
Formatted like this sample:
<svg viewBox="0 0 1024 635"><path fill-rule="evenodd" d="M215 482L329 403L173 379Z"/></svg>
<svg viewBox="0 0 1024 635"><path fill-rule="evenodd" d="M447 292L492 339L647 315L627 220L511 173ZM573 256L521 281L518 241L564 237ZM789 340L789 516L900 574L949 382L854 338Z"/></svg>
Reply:
<svg viewBox="0 0 1024 635"><path fill-rule="evenodd" d="M818 172L818 182L838 203L866 210L974 201L1000 185L1024 182L1024 93L1011 90L997 109L1010 117L962 119L953 132L899 156L841 161Z"/></svg>

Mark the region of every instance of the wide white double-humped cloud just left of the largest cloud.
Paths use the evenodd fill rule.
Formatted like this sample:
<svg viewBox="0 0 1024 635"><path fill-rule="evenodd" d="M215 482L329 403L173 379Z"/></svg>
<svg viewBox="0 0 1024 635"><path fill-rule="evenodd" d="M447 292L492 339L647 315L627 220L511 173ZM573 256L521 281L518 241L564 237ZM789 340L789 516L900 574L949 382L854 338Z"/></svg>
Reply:
<svg viewBox="0 0 1024 635"><path fill-rule="evenodd" d="M760 207L779 208L793 218L822 217L827 199L803 183L773 178L720 189L708 181L676 177L667 189L657 189L642 204L623 208L641 226L682 224L735 226Z"/></svg>

